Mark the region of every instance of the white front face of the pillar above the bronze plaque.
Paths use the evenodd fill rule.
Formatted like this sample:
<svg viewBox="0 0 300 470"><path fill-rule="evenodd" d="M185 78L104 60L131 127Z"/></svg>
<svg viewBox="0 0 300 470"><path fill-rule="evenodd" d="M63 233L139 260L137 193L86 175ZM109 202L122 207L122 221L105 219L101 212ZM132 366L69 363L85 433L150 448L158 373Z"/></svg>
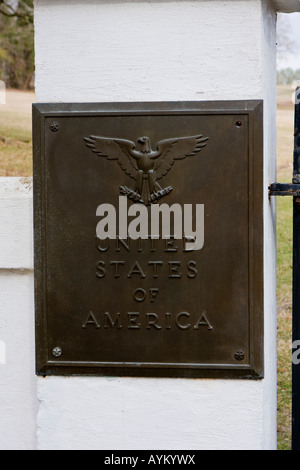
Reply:
<svg viewBox="0 0 300 470"><path fill-rule="evenodd" d="M255 98L260 10L253 0L36 0L37 99Z"/></svg>

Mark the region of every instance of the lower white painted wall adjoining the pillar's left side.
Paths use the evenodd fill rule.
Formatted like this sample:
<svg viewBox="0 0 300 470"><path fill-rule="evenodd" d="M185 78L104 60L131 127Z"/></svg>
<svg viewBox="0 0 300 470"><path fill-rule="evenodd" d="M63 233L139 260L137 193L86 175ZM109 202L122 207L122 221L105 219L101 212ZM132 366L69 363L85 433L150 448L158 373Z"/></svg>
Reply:
<svg viewBox="0 0 300 470"><path fill-rule="evenodd" d="M0 450L36 449L32 181L0 178Z"/></svg>

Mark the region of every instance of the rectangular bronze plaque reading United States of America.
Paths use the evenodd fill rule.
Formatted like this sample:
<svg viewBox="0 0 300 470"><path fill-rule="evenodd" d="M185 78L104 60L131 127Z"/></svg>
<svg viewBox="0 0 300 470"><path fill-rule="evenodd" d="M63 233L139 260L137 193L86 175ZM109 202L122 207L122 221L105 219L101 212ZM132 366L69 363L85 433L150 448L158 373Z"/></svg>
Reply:
<svg viewBox="0 0 300 470"><path fill-rule="evenodd" d="M262 378L262 109L33 105L38 374Z"/></svg>

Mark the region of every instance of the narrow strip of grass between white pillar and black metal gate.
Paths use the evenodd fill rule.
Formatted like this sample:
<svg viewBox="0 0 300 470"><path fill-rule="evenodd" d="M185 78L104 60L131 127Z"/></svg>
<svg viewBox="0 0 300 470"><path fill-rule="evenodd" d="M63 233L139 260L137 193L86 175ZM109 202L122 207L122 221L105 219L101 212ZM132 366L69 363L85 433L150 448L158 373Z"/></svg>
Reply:
<svg viewBox="0 0 300 470"><path fill-rule="evenodd" d="M277 181L293 173L294 106L290 87L278 88ZM277 197L277 426L279 450L291 450L293 201Z"/></svg>

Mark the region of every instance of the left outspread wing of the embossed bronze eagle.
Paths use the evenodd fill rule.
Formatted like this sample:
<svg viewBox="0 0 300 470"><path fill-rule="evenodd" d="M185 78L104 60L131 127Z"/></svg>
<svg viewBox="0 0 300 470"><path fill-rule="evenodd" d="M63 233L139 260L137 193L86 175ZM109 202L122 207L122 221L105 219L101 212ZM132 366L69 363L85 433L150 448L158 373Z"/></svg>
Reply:
<svg viewBox="0 0 300 470"><path fill-rule="evenodd" d="M135 144L130 140L113 139L91 135L84 137L87 147L100 157L117 160L123 171L131 178L137 177L136 160L133 158Z"/></svg>

